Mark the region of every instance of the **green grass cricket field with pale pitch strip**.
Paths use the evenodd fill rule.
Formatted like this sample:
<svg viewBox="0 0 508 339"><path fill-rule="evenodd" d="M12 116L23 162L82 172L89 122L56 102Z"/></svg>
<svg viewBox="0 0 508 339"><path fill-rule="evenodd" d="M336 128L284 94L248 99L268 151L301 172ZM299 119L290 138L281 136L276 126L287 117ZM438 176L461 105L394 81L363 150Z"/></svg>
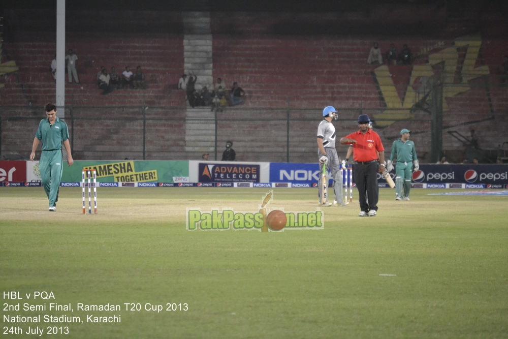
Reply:
<svg viewBox="0 0 508 339"><path fill-rule="evenodd" d="M317 208L317 189L273 190L268 209ZM61 188L56 213L42 188L0 188L3 332L508 337L508 197L380 189L377 217L322 208L323 230L185 227L187 207L258 212L267 191L99 188L99 213L83 215L79 188Z"/></svg>

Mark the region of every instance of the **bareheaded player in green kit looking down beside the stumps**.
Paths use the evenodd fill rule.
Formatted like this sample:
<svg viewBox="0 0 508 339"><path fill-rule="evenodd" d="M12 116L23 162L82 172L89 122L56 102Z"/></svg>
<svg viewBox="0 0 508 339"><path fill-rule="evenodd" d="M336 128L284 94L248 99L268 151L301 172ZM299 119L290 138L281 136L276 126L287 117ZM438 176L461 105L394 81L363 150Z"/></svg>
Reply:
<svg viewBox="0 0 508 339"><path fill-rule="evenodd" d="M74 160L71 156L71 146L69 144L69 130L67 124L56 117L56 106L46 104L46 119L42 119L34 138L30 160L34 161L35 151L39 142L42 140L41 160L39 161L39 170L41 172L42 186L48 196L49 210L56 211L56 202L58 201L58 190L60 188L60 179L62 177L62 144L67 151L67 163L71 166Z"/></svg>

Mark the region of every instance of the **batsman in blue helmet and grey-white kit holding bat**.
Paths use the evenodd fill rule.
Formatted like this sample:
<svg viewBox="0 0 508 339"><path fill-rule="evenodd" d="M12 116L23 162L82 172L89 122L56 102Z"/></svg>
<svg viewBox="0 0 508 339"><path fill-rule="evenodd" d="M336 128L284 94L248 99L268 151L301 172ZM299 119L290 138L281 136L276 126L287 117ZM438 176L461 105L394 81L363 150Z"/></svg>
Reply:
<svg viewBox="0 0 508 339"><path fill-rule="evenodd" d="M330 177L326 177L325 184L323 184L323 176L320 175L319 182L319 198L321 206L346 206L347 201L342 201L342 173L340 171L339 157L335 150L335 127L332 120L337 120L337 111L332 106L327 106L323 110L323 120L317 127L317 157L320 162L320 173L323 172L323 166L326 168L326 173L330 173L333 179L333 193L335 200L333 203L328 201L328 194L324 193L327 190ZM325 196L326 194L326 196Z"/></svg>

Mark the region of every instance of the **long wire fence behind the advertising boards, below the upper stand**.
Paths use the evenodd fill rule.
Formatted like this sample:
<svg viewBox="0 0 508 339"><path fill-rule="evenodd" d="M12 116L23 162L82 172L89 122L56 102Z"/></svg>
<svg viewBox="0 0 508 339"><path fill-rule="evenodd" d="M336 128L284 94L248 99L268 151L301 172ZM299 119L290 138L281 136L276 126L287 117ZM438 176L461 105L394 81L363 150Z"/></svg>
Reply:
<svg viewBox="0 0 508 339"><path fill-rule="evenodd" d="M443 88L447 87L436 85L411 107L392 108L380 101L379 108L338 108L334 126L339 155L345 156L347 146L338 140L358 129L354 121L360 114L368 114L387 156L400 130L407 128L424 163L435 163L442 156L455 163L472 158L482 163L508 162L508 95L505 88L492 90L488 83L480 79L473 84L478 87L475 99L465 103L445 98ZM28 160L38 123L44 117L42 107L0 106L0 159ZM206 152L209 160L220 161L230 140L237 161L315 162L316 131L322 117L318 108L65 109L75 160L196 160Z"/></svg>

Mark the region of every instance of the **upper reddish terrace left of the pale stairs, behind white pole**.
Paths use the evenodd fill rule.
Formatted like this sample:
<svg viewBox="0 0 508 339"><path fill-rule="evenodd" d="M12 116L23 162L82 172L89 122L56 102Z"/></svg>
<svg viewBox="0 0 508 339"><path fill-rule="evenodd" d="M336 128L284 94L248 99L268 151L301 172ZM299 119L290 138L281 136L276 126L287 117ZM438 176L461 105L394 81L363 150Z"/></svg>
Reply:
<svg viewBox="0 0 508 339"><path fill-rule="evenodd" d="M67 41L68 48L73 48L79 58L77 70L81 84L68 84L66 74L66 104L185 105L185 96L176 89L183 69L181 35L124 34L118 37L117 34L70 33L67 35ZM10 57L19 65L19 72L18 83L12 80L6 83L3 91L9 95L3 103L24 105L26 101L30 101L33 104L44 105L46 102L54 102L55 83L49 67L56 48L52 36L18 34L15 43L6 45ZM107 96L101 96L96 81L100 67L105 66L109 71L111 66L115 66L116 71L121 74L127 65L133 71L136 66L141 66L148 88L115 90ZM18 95L21 85L23 97Z"/></svg>

